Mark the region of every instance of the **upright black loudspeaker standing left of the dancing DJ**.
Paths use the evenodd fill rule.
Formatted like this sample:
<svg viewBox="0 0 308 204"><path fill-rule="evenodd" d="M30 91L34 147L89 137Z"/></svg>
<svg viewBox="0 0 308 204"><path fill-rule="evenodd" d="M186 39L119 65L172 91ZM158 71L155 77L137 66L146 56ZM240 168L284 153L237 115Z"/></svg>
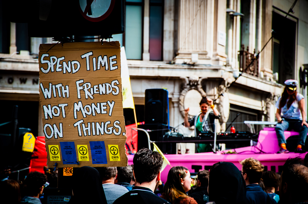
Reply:
<svg viewBox="0 0 308 204"><path fill-rule="evenodd" d="M162 88L145 90L145 124L168 124L168 91Z"/></svg>

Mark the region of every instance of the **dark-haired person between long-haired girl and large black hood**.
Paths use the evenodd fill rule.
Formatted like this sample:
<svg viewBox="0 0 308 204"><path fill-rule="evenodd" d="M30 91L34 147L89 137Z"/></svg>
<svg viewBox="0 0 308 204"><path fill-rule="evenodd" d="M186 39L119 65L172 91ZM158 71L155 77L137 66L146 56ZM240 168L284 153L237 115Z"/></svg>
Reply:
<svg viewBox="0 0 308 204"><path fill-rule="evenodd" d="M194 198L198 204L204 203L203 195L208 194L209 185L209 171L202 170L197 173L197 188L190 194L190 197Z"/></svg>

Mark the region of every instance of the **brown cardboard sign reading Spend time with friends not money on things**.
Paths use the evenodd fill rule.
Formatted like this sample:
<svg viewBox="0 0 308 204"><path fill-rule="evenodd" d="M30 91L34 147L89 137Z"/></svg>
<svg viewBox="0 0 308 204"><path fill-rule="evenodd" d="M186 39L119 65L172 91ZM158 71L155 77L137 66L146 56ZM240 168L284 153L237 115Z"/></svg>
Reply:
<svg viewBox="0 0 308 204"><path fill-rule="evenodd" d="M127 166L119 42L42 44L39 51L48 167Z"/></svg>

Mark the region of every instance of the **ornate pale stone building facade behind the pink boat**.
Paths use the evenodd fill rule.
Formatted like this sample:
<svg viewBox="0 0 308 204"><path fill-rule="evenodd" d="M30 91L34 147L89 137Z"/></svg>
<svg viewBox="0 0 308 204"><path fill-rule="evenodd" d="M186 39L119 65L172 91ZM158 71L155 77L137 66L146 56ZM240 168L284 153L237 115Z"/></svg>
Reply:
<svg viewBox="0 0 308 204"><path fill-rule="evenodd" d="M274 121L283 81L299 80L300 69L308 64L308 1L299 0L294 14L285 18L292 4L293 0L126 0L125 33L113 37L126 50L138 122L144 120L144 92L149 88L168 89L170 126L188 136L193 130L180 125L184 108L190 106L195 114L202 95L215 100L222 114L219 131L229 131L226 123L238 112L237 130L247 130L244 120ZM51 38L29 38L24 25L6 22L3 16L0 20L0 102L7 107L18 104L24 114L20 125L31 127L35 136L43 135L37 54L39 44L51 43ZM233 76L243 72L270 39L272 29L274 37L259 59L225 92ZM300 92L307 101L307 88ZM132 123L131 112L125 114L127 124ZM9 115L6 110L0 123Z"/></svg>

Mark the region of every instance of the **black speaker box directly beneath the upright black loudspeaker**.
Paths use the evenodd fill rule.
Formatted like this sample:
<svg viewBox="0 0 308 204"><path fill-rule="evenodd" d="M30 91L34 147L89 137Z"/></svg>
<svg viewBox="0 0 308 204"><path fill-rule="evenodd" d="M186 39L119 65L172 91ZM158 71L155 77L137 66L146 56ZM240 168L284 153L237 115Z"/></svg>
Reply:
<svg viewBox="0 0 308 204"><path fill-rule="evenodd" d="M144 124L138 125L138 128L142 128L144 130L149 131L150 140L151 141L163 141L163 136L166 132L168 132L168 125L165 124ZM170 127L171 128L171 127ZM147 135L144 131L138 130L138 150L142 148L149 148ZM161 142L155 143L160 150L163 148L163 144ZM153 144L151 144L151 149L153 149Z"/></svg>

